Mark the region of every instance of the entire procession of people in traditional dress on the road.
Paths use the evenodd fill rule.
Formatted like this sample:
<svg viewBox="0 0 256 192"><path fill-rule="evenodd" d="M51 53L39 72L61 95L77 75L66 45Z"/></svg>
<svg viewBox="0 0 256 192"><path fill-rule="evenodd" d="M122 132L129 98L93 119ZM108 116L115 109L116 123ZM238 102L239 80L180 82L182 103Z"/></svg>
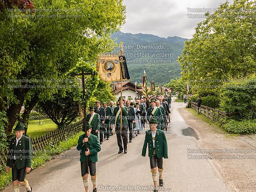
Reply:
<svg viewBox="0 0 256 192"><path fill-rule="evenodd" d="M97 154L101 151L103 141L108 141L114 134L119 147L118 154L127 154L127 144L131 143L138 134L145 134L141 155L145 157L148 147L154 192L158 191L158 187L163 187L163 158L168 158L167 141L163 130L165 128L167 130L170 123L170 102L171 98L168 95L146 96L134 100L119 97L116 105L114 101L110 101L109 105L103 102L101 106L100 101L97 100L94 106L89 107L89 113L86 115L87 123L83 126L84 134L80 135L77 143L77 150L80 152L81 177L86 191L89 191L89 174L93 192L97 191ZM32 187L26 180L26 173L31 169L33 150L31 140L23 133L24 125L19 122L15 127L16 137L10 143L6 168L7 172L12 168L13 190L17 192L20 185L27 191L32 191ZM27 153L21 153L19 157L20 149Z"/></svg>

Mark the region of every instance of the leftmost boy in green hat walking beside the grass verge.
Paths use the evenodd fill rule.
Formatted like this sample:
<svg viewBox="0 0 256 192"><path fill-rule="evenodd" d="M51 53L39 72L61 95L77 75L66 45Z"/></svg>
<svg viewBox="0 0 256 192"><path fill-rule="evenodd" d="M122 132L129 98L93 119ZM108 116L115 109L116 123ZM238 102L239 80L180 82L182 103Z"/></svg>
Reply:
<svg viewBox="0 0 256 192"><path fill-rule="evenodd" d="M12 184L15 192L19 191L20 185L24 186L27 191L32 191L32 187L26 180L26 173L31 170L33 149L30 138L23 135L24 130L24 124L18 122L14 129L16 137L11 139L6 163L7 172L10 172L10 167L12 168Z"/></svg>

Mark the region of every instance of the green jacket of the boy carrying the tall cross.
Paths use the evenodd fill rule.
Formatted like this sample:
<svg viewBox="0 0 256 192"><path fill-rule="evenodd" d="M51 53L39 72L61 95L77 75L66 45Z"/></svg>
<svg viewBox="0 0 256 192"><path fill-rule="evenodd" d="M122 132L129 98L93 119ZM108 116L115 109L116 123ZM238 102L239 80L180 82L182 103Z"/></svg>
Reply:
<svg viewBox="0 0 256 192"><path fill-rule="evenodd" d="M80 161L81 162L86 162L86 143L83 143L82 140L84 139L84 137L86 137L86 134L82 134L79 136L79 140L77 143L77 150L80 151ZM100 152L101 147L99 144L99 140L98 137L90 134L90 137L88 138L88 144L87 147L90 150L90 155L89 158L91 159L91 161L93 163L98 161L98 152Z"/></svg>

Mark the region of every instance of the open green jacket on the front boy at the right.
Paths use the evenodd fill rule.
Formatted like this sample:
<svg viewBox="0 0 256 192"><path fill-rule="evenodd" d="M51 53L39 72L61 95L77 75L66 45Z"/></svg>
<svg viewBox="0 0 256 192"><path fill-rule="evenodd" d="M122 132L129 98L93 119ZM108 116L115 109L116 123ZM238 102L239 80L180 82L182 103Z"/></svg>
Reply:
<svg viewBox="0 0 256 192"><path fill-rule="evenodd" d="M153 138L151 130L147 130L142 148L142 156L146 156L146 147L148 146L148 157L153 156ZM162 130L156 129L155 150L158 158L168 158L168 148L165 134Z"/></svg>

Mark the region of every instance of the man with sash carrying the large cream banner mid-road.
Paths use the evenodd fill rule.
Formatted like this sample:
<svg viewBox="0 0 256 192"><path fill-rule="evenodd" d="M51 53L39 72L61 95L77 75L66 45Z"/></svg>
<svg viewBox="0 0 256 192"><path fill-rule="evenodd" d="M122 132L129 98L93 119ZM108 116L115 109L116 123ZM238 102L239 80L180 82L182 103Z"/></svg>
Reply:
<svg viewBox="0 0 256 192"><path fill-rule="evenodd" d="M113 112L113 122L116 124L116 137L117 137L117 144L119 146L119 152L126 154L127 153L127 127L128 127L128 121L127 121L127 116L128 116L128 108L127 106L123 105L124 99L121 99L119 97L118 99L119 105L114 108ZM121 113L122 113L122 124L120 122L121 120ZM123 140L123 146L122 146L122 140Z"/></svg>

